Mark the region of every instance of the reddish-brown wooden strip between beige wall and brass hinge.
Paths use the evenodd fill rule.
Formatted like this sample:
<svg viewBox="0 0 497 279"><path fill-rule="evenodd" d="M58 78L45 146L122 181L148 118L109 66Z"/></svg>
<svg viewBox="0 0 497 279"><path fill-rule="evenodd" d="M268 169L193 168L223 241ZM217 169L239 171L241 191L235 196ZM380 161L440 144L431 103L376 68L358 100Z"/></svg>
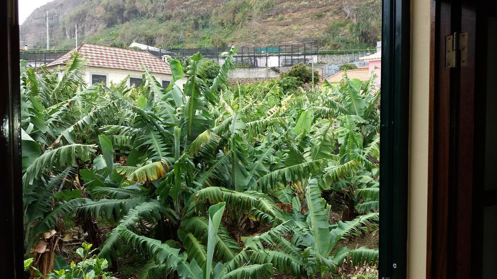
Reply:
<svg viewBox="0 0 497 279"><path fill-rule="evenodd" d="M450 147L451 143L451 70L445 69L445 36L452 33L450 2L436 3L434 96L433 96L433 169L432 169L432 237L430 268L433 279L451 278L449 261Z"/></svg>

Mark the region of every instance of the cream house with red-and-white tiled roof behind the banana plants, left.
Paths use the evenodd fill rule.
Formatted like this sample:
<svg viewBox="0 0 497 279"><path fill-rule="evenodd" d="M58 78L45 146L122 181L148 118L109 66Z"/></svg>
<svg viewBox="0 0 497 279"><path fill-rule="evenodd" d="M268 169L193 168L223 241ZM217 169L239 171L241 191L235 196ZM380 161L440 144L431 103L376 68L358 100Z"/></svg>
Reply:
<svg viewBox="0 0 497 279"><path fill-rule="evenodd" d="M78 52L88 60L85 65L85 81L90 85L110 81L117 83L128 75L128 85L140 86L142 83L143 66L151 71L163 87L167 87L172 78L169 64L151 53L138 50L128 50L115 47L105 47L91 44L81 44L60 58L47 64L49 69L64 66L71 54ZM186 82L186 78L176 81L178 85Z"/></svg>

